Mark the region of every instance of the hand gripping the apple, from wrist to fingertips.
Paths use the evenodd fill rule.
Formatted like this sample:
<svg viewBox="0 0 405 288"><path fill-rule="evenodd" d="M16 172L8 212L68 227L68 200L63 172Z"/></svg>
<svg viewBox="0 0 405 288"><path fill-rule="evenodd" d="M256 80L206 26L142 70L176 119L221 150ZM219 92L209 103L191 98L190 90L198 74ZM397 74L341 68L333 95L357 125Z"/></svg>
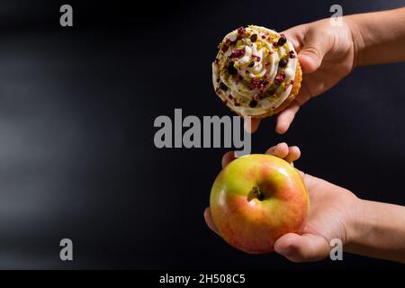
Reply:
<svg viewBox="0 0 405 288"><path fill-rule="evenodd" d="M301 156L298 147L280 143L266 151L266 154L284 158L293 163ZM234 159L228 152L222 158L222 166ZM289 233L275 242L275 251L293 262L315 261L329 256L330 240L339 238L346 244L352 235L352 222L361 209L361 200L347 189L330 184L320 178L303 174L310 193L310 215L302 235ZM209 208L204 211L208 226L218 234L211 220Z"/></svg>

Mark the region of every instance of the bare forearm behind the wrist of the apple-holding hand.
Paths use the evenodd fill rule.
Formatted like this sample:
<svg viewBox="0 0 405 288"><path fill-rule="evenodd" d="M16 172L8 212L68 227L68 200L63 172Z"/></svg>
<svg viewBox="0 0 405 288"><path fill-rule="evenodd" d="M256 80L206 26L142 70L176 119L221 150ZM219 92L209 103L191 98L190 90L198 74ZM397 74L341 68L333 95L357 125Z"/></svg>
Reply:
<svg viewBox="0 0 405 288"><path fill-rule="evenodd" d="M361 201L345 250L405 263L405 207Z"/></svg>

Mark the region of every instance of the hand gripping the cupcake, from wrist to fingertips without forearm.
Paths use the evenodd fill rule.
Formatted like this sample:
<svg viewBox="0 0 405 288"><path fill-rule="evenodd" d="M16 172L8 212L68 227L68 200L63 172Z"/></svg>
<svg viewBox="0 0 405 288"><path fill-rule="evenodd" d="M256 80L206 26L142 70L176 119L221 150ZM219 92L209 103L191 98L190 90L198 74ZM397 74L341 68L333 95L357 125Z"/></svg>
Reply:
<svg viewBox="0 0 405 288"><path fill-rule="evenodd" d="M293 103L277 116L275 130L283 134L300 107L312 97L336 85L355 67L356 49L348 20L332 26L329 19L302 24L284 31L293 43L302 65L302 87ZM259 120L245 123L247 131L257 130Z"/></svg>

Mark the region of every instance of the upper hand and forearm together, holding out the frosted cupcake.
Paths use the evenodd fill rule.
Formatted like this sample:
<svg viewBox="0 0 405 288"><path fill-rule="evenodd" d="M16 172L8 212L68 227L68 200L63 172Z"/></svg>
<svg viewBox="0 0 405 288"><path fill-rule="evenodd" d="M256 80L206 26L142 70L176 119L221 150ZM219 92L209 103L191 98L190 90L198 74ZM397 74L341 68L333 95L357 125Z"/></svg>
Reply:
<svg viewBox="0 0 405 288"><path fill-rule="evenodd" d="M302 104L336 85L354 67L405 61L405 8L354 14L295 26L284 31L298 51L303 78L295 101L277 116L275 130L285 133ZM259 121L245 123L257 130Z"/></svg>

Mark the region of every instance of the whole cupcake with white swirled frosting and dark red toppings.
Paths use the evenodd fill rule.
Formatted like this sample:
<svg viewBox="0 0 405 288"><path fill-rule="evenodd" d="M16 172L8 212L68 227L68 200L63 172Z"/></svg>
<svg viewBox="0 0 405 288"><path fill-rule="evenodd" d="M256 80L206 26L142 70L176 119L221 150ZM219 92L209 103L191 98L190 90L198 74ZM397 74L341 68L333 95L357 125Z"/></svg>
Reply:
<svg viewBox="0 0 405 288"><path fill-rule="evenodd" d="M293 44L283 34L250 25L220 42L212 63L215 93L242 117L281 112L301 87L302 69Z"/></svg>

